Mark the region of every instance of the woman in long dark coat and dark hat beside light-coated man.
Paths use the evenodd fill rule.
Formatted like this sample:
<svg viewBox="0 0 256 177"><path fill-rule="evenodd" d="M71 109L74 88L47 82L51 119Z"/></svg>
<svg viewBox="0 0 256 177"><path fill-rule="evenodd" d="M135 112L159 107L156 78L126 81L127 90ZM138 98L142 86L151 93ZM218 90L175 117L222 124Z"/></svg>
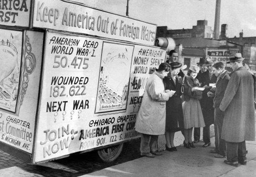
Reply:
<svg viewBox="0 0 256 177"><path fill-rule="evenodd" d="M166 150L177 151L173 144L174 134L184 129L181 95L183 94L182 78L178 78L181 63L173 62L171 72L163 79L164 89L175 91L173 97L166 101Z"/></svg>

